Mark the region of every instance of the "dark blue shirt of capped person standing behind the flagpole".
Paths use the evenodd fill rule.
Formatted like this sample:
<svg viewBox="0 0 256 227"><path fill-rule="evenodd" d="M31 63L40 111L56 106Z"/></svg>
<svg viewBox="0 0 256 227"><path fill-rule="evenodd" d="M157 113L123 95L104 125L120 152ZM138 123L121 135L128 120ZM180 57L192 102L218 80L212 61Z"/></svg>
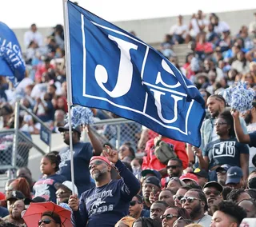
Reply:
<svg viewBox="0 0 256 227"><path fill-rule="evenodd" d="M78 142L73 145L74 157L74 184L78 188L78 195L81 195L94 186L90 181L89 163L93 156L93 147L89 142ZM70 147L63 148L59 153L62 162L59 166L59 173L66 177L67 181L71 181L70 171Z"/></svg>

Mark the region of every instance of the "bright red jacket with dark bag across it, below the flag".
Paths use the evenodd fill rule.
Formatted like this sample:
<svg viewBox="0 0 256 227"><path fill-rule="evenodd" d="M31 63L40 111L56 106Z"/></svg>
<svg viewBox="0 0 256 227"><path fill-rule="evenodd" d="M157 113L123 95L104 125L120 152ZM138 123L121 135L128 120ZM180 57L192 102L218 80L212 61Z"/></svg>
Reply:
<svg viewBox="0 0 256 227"><path fill-rule="evenodd" d="M178 158L182 161L183 169L186 169L189 164L189 159L186 154L185 143L181 141L174 141L167 137L161 137L161 140L174 145L174 151L177 154ZM158 170L162 174L162 177L165 177L167 175L166 165L162 164L154 155L154 138L146 142L142 169Z"/></svg>

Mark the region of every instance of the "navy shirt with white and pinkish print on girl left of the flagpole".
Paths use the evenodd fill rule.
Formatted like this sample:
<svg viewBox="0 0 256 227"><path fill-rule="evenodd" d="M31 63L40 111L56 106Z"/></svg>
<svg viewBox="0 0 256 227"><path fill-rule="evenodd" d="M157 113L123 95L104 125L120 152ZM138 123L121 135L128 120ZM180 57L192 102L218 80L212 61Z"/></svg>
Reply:
<svg viewBox="0 0 256 227"><path fill-rule="evenodd" d="M56 203L56 189L55 183L62 183L66 181L66 177L59 174L54 174L49 177L42 177L34 183L34 197L44 197L46 201L53 201Z"/></svg>

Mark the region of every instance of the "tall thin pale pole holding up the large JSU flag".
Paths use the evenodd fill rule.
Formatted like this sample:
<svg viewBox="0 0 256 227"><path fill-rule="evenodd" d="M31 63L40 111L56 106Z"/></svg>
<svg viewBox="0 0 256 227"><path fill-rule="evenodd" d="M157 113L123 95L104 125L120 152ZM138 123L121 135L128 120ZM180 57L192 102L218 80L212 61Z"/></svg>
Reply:
<svg viewBox="0 0 256 227"><path fill-rule="evenodd" d="M71 105L72 105L72 91L71 91L71 66L70 66L70 28L69 15L67 9L67 1L63 2L63 18L64 18L64 42L65 42L65 63L66 63L66 89L67 89L67 110L68 110L68 124L70 132L70 171L72 181L72 191L74 193L74 158L73 158L73 140L72 140L72 125L71 125Z"/></svg>

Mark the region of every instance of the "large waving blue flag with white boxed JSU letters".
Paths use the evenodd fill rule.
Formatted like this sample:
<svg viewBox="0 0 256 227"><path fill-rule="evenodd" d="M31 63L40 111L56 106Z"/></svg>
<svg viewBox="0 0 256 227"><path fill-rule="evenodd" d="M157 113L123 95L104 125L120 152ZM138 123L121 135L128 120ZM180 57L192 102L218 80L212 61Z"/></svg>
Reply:
<svg viewBox="0 0 256 227"><path fill-rule="evenodd" d="M199 146L205 105L198 89L142 40L67 5L72 104L109 110Z"/></svg>

